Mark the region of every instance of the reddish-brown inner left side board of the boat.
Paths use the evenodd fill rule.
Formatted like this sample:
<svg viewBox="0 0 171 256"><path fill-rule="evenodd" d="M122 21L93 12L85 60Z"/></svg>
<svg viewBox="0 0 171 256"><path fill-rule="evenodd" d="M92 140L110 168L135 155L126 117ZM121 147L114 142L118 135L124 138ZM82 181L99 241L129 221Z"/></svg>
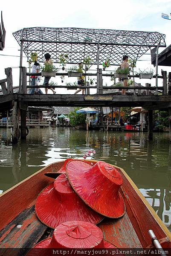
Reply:
<svg viewBox="0 0 171 256"><path fill-rule="evenodd" d="M29 205L32 206L40 191L53 181L49 177L44 178L44 172L48 171L52 172L52 164L0 195L0 230L16 218L20 212L29 207Z"/></svg>

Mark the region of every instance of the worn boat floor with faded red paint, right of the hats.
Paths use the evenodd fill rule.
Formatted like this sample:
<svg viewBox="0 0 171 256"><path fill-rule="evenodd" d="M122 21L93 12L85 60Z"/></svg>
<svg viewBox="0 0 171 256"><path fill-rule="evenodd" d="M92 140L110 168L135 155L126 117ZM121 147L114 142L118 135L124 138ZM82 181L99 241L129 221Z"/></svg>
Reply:
<svg viewBox="0 0 171 256"><path fill-rule="evenodd" d="M118 219L105 218L98 226L103 231L104 239L119 248L142 247L127 213Z"/></svg>

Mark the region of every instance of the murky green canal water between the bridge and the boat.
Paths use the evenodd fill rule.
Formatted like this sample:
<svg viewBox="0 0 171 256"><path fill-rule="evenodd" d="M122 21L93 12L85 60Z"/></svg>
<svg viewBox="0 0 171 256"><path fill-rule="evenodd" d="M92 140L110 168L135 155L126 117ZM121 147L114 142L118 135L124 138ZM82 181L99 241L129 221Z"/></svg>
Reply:
<svg viewBox="0 0 171 256"><path fill-rule="evenodd" d="M92 157L120 166L171 230L171 144L168 133L82 131L32 128L26 141L11 143L11 130L0 128L0 190L5 191L43 166L66 158ZM90 159L90 157L89 157Z"/></svg>

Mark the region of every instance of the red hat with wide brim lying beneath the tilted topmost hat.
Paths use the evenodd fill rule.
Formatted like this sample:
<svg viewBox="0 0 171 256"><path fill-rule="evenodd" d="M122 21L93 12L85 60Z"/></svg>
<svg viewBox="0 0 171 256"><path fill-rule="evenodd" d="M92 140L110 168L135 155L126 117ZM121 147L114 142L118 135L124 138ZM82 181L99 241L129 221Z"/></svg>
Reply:
<svg viewBox="0 0 171 256"><path fill-rule="evenodd" d="M54 229L65 221L97 224L104 218L78 197L65 174L43 189L36 200L35 211L46 226Z"/></svg>

